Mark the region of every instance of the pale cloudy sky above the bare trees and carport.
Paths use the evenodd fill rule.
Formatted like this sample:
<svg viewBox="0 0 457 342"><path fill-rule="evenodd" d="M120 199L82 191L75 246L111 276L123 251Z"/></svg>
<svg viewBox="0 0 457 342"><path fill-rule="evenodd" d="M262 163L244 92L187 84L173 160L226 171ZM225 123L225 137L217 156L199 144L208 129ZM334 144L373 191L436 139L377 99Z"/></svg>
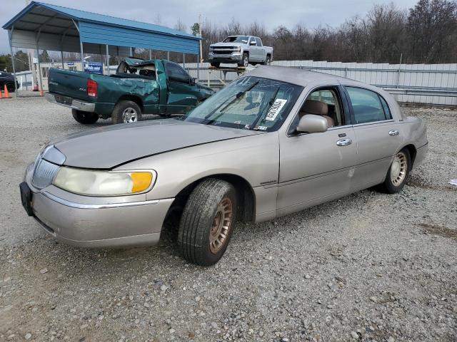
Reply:
<svg viewBox="0 0 457 342"><path fill-rule="evenodd" d="M409 9L418 0L396 0L399 9ZM391 0L43 0L48 4L71 7L124 19L144 21L174 27L181 21L190 27L199 21L227 24L234 18L241 24L257 21L269 31L279 25L307 28L319 25L339 26L345 19L364 16L374 4L389 4ZM0 26L26 6L26 0L0 0ZM160 21L160 22L158 22ZM0 28L0 53L9 53L8 33Z"/></svg>

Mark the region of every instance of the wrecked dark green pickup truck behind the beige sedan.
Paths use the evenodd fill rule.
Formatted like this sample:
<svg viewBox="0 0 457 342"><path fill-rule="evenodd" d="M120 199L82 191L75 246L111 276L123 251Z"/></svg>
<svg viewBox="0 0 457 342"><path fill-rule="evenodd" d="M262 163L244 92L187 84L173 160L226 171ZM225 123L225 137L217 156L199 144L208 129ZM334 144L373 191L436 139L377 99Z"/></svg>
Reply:
<svg viewBox="0 0 457 342"><path fill-rule="evenodd" d="M46 99L71 108L79 123L134 123L142 114L186 113L213 94L179 64L126 58L111 76L51 68Z"/></svg>

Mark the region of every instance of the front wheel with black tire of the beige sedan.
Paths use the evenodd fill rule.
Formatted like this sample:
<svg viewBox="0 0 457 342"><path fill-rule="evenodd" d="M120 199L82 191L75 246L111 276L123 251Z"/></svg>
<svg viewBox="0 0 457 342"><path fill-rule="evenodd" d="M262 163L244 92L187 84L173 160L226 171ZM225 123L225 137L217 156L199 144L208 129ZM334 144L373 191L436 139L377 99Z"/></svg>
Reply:
<svg viewBox="0 0 457 342"><path fill-rule="evenodd" d="M231 219L229 224L226 224L229 227L226 234L222 234L216 227L224 227L221 217L223 222L227 222L228 218L224 215L228 211L224 210L224 213L220 214L220 208L226 208L229 202ZM184 259L200 266L211 266L221 259L233 232L236 205L236 191L229 182L208 178L196 186L186 202L179 222L178 243ZM223 235L222 243L211 244L211 239Z"/></svg>

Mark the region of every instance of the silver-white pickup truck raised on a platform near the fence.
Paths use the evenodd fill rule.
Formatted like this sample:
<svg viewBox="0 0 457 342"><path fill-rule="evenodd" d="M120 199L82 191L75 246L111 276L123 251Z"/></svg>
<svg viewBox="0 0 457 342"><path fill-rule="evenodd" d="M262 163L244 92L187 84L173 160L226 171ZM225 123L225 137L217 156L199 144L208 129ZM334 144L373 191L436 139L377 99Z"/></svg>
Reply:
<svg viewBox="0 0 457 342"><path fill-rule="evenodd" d="M209 63L216 68L221 63L237 63L245 68L249 63L265 65L272 59L273 48L263 46L261 38L255 36L228 36L209 46Z"/></svg>

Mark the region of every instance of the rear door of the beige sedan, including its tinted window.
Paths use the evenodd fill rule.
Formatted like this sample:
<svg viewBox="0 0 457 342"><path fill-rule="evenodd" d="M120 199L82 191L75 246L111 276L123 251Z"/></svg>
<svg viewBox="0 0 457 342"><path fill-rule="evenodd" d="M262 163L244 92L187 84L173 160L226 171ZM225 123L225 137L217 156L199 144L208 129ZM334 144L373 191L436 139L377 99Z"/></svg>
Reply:
<svg viewBox="0 0 457 342"><path fill-rule="evenodd" d="M383 182L403 135L401 125L393 120L380 94L356 86L346 86L345 90L357 141L356 169L351 184L351 190L357 191Z"/></svg>

